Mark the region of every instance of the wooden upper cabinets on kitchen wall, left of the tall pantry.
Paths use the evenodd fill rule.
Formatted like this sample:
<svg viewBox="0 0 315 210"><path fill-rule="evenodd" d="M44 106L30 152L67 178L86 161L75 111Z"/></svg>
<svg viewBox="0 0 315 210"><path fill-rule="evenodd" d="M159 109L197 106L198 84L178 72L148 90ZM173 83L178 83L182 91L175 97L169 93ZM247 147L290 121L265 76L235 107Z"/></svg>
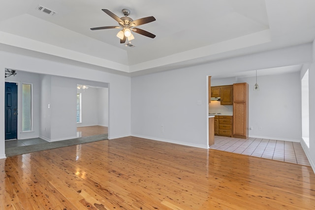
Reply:
<svg viewBox="0 0 315 210"><path fill-rule="evenodd" d="M211 87L211 97L221 97L221 105L232 105L233 85Z"/></svg>

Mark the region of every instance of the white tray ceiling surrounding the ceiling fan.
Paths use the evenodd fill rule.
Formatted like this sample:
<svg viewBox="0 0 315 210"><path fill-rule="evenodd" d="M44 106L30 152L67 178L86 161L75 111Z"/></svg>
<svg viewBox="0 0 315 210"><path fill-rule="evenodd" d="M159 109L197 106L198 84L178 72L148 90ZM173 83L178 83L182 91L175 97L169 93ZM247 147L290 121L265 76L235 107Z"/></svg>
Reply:
<svg viewBox="0 0 315 210"><path fill-rule="evenodd" d="M116 37L120 29L90 30L118 26L101 9L123 17L123 8L133 20L154 16L138 28L157 36L133 33L130 48ZM315 0L2 0L0 43L144 74L312 42L314 8Z"/></svg>

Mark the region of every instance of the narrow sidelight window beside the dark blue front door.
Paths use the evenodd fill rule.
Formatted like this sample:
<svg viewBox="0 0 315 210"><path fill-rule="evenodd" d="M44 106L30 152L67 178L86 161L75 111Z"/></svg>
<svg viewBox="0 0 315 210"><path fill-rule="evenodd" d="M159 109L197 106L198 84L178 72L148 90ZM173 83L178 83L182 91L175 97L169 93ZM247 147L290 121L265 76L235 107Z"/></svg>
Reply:
<svg viewBox="0 0 315 210"><path fill-rule="evenodd" d="M32 84L22 84L22 132L32 131Z"/></svg>

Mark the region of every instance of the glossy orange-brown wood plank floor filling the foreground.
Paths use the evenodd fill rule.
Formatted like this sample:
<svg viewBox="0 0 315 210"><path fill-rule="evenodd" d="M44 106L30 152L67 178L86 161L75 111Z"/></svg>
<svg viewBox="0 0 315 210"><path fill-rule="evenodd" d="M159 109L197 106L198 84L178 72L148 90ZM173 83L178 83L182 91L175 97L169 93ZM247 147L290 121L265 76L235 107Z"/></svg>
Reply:
<svg viewBox="0 0 315 210"><path fill-rule="evenodd" d="M309 166L136 137L0 159L0 210L312 210Z"/></svg>

